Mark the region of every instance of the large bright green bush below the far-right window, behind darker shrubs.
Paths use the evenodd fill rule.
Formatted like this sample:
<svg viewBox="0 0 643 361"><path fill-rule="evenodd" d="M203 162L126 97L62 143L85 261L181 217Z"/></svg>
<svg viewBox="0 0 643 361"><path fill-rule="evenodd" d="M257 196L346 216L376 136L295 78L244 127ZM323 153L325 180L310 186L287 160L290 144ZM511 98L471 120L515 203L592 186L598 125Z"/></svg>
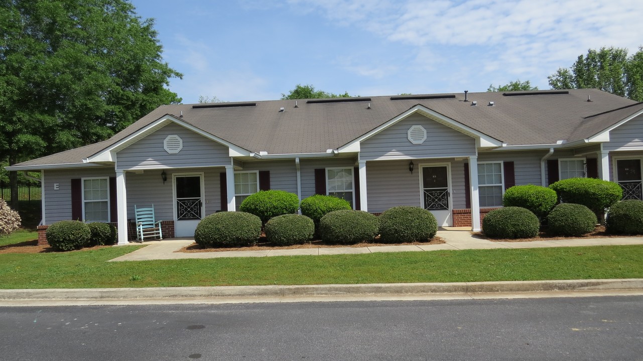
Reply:
<svg viewBox="0 0 643 361"><path fill-rule="evenodd" d="M561 202L583 204L597 215L623 198L619 184L595 178L563 179L549 188L556 191Z"/></svg>

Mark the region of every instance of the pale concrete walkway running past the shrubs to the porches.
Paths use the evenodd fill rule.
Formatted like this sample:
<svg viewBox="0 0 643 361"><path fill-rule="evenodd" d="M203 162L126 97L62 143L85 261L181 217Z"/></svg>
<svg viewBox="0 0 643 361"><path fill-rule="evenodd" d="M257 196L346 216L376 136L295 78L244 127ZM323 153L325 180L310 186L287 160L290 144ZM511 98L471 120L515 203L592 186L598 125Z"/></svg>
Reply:
<svg viewBox="0 0 643 361"><path fill-rule="evenodd" d="M643 237L586 238L542 240L532 242L492 242L477 238L468 228L444 227L437 233L446 243L437 245L386 245L372 247L334 247L309 249L271 249L266 251L176 252L194 243L194 238L173 238L148 244L111 261L179 260L181 258L269 257L269 256L318 256L321 254L361 254L375 252L413 252L460 249L578 247L593 245L640 245Z"/></svg>

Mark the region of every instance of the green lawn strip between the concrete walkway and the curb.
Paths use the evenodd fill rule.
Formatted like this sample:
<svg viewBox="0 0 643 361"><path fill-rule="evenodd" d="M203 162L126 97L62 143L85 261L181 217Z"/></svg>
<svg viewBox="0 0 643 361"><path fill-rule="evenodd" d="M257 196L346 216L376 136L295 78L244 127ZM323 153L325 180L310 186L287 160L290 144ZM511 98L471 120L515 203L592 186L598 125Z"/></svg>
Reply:
<svg viewBox="0 0 643 361"><path fill-rule="evenodd" d="M309 285L643 277L643 245L106 262L140 245L0 254L0 288Z"/></svg>

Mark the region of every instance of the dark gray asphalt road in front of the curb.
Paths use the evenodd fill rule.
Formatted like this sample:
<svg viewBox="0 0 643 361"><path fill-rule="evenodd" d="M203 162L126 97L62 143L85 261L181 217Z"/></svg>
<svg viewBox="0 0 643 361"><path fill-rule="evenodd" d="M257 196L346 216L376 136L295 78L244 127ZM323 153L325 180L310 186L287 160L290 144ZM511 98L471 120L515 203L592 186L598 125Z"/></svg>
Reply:
<svg viewBox="0 0 643 361"><path fill-rule="evenodd" d="M1 360L643 360L643 296L0 308Z"/></svg>

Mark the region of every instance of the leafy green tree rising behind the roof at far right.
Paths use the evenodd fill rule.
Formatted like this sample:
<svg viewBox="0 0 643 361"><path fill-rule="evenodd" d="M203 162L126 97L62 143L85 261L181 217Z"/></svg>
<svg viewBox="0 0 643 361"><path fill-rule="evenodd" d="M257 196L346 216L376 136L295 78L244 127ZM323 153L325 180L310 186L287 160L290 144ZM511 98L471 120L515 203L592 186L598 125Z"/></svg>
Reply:
<svg viewBox="0 0 643 361"><path fill-rule="evenodd" d="M554 89L596 88L643 101L643 47L628 57L625 48L589 49L570 68L547 77Z"/></svg>

